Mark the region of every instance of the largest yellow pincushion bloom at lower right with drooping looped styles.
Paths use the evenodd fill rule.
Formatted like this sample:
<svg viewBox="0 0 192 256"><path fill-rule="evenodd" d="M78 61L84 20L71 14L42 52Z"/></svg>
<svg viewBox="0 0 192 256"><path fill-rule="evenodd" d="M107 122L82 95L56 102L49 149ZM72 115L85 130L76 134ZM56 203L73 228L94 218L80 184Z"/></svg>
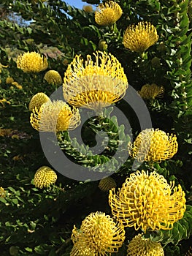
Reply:
<svg viewBox="0 0 192 256"><path fill-rule="evenodd" d="M186 208L185 192L180 185L173 187L174 182L169 185L155 171L131 173L117 194L110 190L112 214L126 227L142 228L145 233L147 229L172 229Z"/></svg>

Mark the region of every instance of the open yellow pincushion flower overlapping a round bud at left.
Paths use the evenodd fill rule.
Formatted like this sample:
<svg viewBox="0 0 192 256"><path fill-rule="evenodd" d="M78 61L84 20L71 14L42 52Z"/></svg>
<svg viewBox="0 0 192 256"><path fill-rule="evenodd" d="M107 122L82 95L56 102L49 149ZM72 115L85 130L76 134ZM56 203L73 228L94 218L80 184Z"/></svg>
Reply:
<svg viewBox="0 0 192 256"><path fill-rule="evenodd" d="M30 122L40 132L64 132L80 125L80 113L62 100L47 101L39 110L32 110Z"/></svg>

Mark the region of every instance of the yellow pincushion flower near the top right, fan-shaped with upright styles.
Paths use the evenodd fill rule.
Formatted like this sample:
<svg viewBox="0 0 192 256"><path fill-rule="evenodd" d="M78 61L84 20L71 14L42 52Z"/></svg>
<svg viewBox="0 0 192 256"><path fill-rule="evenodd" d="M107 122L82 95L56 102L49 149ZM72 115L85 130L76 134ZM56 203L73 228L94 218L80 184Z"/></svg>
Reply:
<svg viewBox="0 0 192 256"><path fill-rule="evenodd" d="M151 45L158 41L158 34L155 27L148 22L139 22L136 26L130 25L123 36L125 48L143 53Z"/></svg>

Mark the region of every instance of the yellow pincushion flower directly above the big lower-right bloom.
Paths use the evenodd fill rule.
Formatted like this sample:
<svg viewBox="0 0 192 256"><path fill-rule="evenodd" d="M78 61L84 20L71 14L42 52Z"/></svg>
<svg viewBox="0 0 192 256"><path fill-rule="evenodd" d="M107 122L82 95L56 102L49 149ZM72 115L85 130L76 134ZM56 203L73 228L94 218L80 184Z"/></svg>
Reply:
<svg viewBox="0 0 192 256"><path fill-rule="evenodd" d="M139 133L134 144L128 145L131 157L139 162L161 162L170 159L177 153L176 135L166 134L159 129L145 129Z"/></svg>

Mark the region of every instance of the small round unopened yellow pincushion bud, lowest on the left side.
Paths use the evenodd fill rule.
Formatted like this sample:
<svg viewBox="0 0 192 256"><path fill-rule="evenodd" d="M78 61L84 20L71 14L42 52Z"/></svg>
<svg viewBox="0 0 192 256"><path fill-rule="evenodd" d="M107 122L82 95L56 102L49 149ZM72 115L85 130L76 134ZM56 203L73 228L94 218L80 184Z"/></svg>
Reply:
<svg viewBox="0 0 192 256"><path fill-rule="evenodd" d="M34 185L42 189L43 187L50 187L57 180L57 175L50 167L39 167L34 175Z"/></svg>

